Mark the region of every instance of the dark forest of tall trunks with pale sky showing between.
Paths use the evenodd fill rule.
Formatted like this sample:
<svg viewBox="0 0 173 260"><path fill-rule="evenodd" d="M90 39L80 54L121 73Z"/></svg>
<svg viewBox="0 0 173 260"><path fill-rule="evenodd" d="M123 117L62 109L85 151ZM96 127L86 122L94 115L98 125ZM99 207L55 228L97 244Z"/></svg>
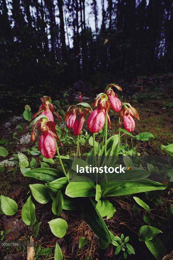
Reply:
<svg viewBox="0 0 173 260"><path fill-rule="evenodd" d="M1 105L12 110L14 97L52 96L93 77L105 86L170 73L172 30L173 0L0 0Z"/></svg>

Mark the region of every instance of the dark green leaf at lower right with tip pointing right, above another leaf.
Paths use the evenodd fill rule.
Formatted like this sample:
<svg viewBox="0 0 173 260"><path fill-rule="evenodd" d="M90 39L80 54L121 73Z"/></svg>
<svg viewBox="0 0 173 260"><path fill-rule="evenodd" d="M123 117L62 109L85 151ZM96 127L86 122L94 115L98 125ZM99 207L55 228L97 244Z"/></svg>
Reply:
<svg viewBox="0 0 173 260"><path fill-rule="evenodd" d="M141 226L138 232L139 241L151 240L159 233L163 232L153 226Z"/></svg>

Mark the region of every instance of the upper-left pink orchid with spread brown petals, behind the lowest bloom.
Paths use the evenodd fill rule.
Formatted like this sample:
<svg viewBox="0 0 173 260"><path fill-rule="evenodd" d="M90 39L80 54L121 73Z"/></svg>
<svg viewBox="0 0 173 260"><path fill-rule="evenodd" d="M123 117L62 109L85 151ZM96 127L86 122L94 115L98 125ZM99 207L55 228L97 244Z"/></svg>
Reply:
<svg viewBox="0 0 173 260"><path fill-rule="evenodd" d="M55 112L52 103L49 103L50 97L46 96L40 99L42 101L42 105L40 105L38 112L33 115L31 120L33 120L38 115L38 113L44 109L44 111L40 115L45 115L50 121L53 122L54 119L52 112L54 112L57 118L62 122L60 116Z"/></svg>

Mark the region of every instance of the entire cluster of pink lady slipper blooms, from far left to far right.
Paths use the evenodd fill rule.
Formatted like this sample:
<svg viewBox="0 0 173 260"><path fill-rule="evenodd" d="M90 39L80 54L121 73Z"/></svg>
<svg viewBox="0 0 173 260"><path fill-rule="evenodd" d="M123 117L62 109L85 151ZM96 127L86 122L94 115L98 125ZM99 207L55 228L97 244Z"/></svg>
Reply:
<svg viewBox="0 0 173 260"><path fill-rule="evenodd" d="M87 126L91 133L93 133L93 138L95 139L95 133L99 132L104 124L106 125L107 132L107 123L111 128L110 117L108 112L110 108L115 112L119 112L119 128L123 120L124 127L128 132L131 132L135 128L135 121L133 116L139 119L138 112L134 107L131 107L129 103L122 103L117 95L112 90L112 87L116 87L118 90L122 91L121 87L110 84L106 87L104 93L97 95L92 107L87 103L82 103L82 93L79 92L78 105L82 105L82 108L72 105L69 107L66 115L65 122L68 128L73 129L74 135L78 136L78 147L79 150L79 134L82 131L82 127L85 121L85 117L89 114L87 120ZM32 123L33 129L31 133L31 142L39 140L39 151L45 158L53 158L56 151L59 154L57 142L59 140L58 136L55 133L55 124L53 118L53 112L56 114L59 120L60 116L54 111L54 106L50 103L50 97L45 96L41 98L42 104L39 107L39 110L36 114L33 115L32 119L35 120ZM93 110L93 108L95 108ZM41 112L41 113L40 113ZM40 115L37 117L37 115ZM62 120L61 120L62 121ZM35 129L37 127L37 137L35 137ZM105 139L106 140L106 139ZM61 146L63 144L60 142ZM80 151L79 151L80 155Z"/></svg>

